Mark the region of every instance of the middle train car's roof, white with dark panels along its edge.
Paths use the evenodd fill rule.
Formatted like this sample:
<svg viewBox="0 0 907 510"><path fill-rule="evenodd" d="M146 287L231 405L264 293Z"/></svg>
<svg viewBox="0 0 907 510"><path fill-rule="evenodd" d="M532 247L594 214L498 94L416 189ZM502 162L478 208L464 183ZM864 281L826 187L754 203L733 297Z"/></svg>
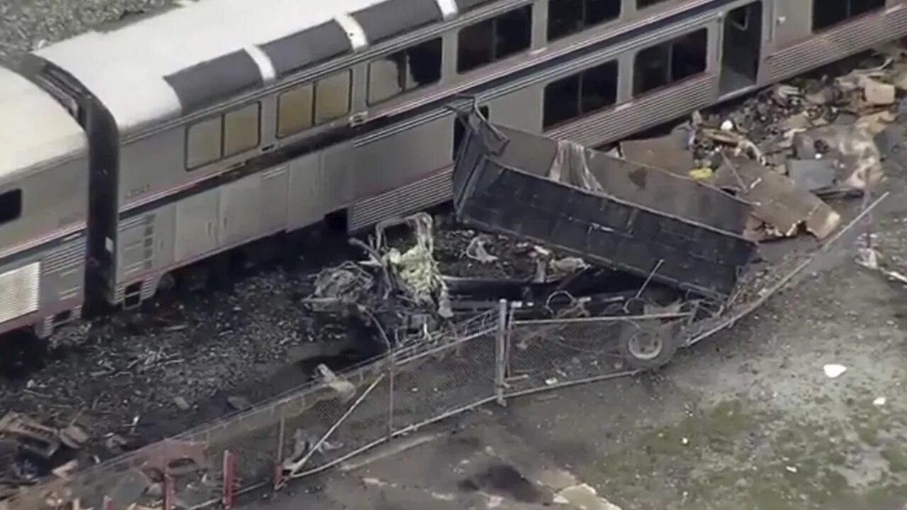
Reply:
<svg viewBox="0 0 907 510"><path fill-rule="evenodd" d="M196 0L37 56L72 74L121 134L192 113L366 44L428 25L474 0ZM355 20L350 24L349 20Z"/></svg>

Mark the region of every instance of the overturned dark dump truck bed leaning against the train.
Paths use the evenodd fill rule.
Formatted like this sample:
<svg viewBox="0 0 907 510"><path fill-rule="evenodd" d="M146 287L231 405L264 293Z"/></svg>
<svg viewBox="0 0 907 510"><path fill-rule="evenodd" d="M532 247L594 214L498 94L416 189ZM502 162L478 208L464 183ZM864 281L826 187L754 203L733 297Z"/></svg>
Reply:
<svg viewBox="0 0 907 510"><path fill-rule="evenodd" d="M724 300L756 245L751 206L723 191L571 142L461 114L460 221Z"/></svg>

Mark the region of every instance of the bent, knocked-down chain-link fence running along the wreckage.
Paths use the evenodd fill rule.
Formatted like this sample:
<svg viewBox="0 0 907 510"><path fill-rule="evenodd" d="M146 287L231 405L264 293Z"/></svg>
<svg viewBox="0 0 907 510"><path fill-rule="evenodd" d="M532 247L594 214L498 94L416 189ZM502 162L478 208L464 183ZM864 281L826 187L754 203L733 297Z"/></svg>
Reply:
<svg viewBox="0 0 907 510"><path fill-rule="evenodd" d="M633 375L647 352L664 355L659 341L672 342L670 355L727 327L821 255L816 250L787 260L748 298L707 310L712 317L705 320L692 321L699 309L626 308L594 317L516 319L518 307L502 302L428 338L403 338L384 357L340 374L325 372L249 411L73 476L24 487L0 502L0 510L229 508L238 495L278 490L474 407Z"/></svg>

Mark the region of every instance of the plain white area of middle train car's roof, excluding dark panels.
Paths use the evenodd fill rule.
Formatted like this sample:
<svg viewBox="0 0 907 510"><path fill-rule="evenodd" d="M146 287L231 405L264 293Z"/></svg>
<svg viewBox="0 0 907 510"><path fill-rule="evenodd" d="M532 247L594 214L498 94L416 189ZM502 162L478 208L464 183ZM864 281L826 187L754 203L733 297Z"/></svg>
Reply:
<svg viewBox="0 0 907 510"><path fill-rule="evenodd" d="M164 76L380 1L199 0L35 54L73 74L104 103L121 133L128 134L180 115L180 101Z"/></svg>

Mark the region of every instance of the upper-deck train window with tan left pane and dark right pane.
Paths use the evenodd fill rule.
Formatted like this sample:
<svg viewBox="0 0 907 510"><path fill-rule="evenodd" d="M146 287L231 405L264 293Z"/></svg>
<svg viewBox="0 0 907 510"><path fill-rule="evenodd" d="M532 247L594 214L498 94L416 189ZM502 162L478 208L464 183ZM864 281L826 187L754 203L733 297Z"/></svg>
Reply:
<svg viewBox="0 0 907 510"><path fill-rule="evenodd" d="M368 64L368 103L440 81L442 47L438 37Z"/></svg>

